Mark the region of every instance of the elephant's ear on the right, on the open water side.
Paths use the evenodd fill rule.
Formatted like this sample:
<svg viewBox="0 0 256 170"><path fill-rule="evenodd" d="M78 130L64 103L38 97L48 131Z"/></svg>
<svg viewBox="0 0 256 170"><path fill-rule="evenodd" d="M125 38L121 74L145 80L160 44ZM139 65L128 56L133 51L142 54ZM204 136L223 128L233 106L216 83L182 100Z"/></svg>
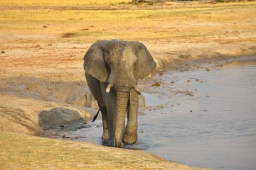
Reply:
<svg viewBox="0 0 256 170"><path fill-rule="evenodd" d="M149 50L142 42L134 42L137 50L137 64L134 67L134 76L136 79L143 79L156 69L156 62L150 55Z"/></svg>

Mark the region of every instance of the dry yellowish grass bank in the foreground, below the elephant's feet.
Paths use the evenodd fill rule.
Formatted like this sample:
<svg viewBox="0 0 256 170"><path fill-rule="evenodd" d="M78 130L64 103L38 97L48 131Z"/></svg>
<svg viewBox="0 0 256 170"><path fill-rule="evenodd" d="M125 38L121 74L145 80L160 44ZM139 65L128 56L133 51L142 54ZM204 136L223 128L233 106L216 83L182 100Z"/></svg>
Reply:
<svg viewBox="0 0 256 170"><path fill-rule="evenodd" d="M0 169L191 169L132 150L0 132Z"/></svg>

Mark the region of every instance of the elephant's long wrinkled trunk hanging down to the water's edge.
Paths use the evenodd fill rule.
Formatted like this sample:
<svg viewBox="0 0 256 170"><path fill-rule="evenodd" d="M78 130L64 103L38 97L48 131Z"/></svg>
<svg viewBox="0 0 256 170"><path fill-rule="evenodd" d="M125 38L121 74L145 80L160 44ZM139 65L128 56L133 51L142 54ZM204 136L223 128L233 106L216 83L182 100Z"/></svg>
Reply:
<svg viewBox="0 0 256 170"><path fill-rule="evenodd" d="M122 135L124 131L124 119L127 111L127 102L129 98L129 90L117 90L117 119L114 129L114 147L124 147L122 143Z"/></svg>

